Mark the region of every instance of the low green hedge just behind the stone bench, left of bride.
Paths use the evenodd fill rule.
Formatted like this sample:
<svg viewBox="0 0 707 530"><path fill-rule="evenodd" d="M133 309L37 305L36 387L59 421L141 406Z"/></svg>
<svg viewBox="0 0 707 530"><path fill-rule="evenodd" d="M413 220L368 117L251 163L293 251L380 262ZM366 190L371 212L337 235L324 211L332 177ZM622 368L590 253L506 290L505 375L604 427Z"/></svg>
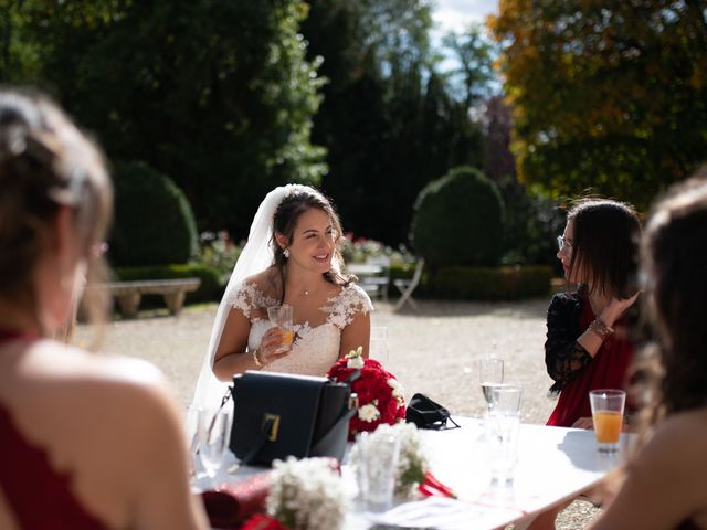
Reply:
<svg viewBox="0 0 707 530"><path fill-rule="evenodd" d="M187 293L187 301L219 301L223 295L224 285L215 267L201 264L182 265L151 265L146 267L116 267L116 279L136 282L138 279L175 279L200 278L201 285L193 293Z"/></svg>

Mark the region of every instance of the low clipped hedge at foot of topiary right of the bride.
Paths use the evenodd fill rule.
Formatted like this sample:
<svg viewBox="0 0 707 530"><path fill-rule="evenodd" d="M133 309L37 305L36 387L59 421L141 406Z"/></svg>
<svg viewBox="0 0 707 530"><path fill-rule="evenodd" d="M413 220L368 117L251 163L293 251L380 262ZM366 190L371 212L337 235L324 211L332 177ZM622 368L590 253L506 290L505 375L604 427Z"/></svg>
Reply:
<svg viewBox="0 0 707 530"><path fill-rule="evenodd" d="M552 267L441 267L422 284L428 297L456 300L517 300L550 293Z"/></svg>

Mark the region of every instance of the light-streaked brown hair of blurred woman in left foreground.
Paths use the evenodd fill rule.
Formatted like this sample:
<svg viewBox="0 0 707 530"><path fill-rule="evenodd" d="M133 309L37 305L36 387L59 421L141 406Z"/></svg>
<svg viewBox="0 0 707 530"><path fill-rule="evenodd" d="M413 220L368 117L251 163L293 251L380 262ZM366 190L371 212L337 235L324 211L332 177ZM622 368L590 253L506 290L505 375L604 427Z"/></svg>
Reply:
<svg viewBox="0 0 707 530"><path fill-rule="evenodd" d="M0 87L0 297L36 309L31 277L62 206L74 212L91 280L105 271L91 257L113 208L103 155L46 97Z"/></svg>

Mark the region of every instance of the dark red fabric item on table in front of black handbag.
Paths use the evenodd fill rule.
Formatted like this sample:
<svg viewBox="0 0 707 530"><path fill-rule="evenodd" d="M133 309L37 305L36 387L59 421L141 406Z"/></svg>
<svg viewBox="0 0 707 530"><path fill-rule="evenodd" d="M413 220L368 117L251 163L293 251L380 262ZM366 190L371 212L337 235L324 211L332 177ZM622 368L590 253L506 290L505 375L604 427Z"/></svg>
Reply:
<svg viewBox="0 0 707 530"><path fill-rule="evenodd" d="M218 488L203 491L203 500L212 528L235 529L254 513L265 510L271 471L258 473Z"/></svg>

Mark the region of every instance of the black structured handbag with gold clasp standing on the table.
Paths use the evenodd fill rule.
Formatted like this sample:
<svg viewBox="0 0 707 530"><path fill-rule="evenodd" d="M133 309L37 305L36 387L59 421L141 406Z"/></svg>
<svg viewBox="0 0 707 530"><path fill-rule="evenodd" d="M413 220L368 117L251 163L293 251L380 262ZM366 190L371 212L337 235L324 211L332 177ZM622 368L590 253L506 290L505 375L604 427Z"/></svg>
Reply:
<svg viewBox="0 0 707 530"><path fill-rule="evenodd" d="M246 371L233 378L229 447L246 465L275 458L344 458L349 420L358 403L349 381Z"/></svg>

